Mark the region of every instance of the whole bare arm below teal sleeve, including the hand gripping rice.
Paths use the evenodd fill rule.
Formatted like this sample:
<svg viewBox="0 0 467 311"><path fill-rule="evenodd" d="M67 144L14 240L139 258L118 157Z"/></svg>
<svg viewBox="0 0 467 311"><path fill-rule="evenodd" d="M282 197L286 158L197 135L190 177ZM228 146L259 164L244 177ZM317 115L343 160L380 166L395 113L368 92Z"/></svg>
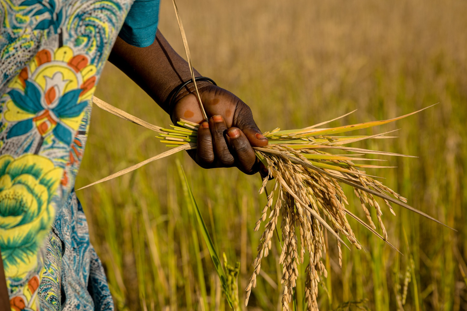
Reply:
<svg viewBox="0 0 467 311"><path fill-rule="evenodd" d="M169 107L173 90L191 78L188 63L178 55L163 35L146 48L134 47L117 38L109 61L121 69L164 111L172 111L172 121L180 118L201 123L198 148L191 157L202 167L237 166L244 173L258 170L252 146L268 144L255 124L250 108L232 93L199 81L197 83L209 122L203 122L198 101L189 84L177 94L174 107ZM200 74L195 71L195 76Z"/></svg>

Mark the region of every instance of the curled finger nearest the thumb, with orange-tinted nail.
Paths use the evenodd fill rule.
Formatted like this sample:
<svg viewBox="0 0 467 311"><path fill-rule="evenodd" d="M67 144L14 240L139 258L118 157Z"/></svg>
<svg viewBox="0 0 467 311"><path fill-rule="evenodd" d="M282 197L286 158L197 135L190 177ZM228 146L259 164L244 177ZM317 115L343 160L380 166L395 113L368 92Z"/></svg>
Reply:
<svg viewBox="0 0 467 311"><path fill-rule="evenodd" d="M257 161L255 151L250 145L245 134L236 127L227 130L226 140L230 150L236 159L237 167L247 174L256 173Z"/></svg>

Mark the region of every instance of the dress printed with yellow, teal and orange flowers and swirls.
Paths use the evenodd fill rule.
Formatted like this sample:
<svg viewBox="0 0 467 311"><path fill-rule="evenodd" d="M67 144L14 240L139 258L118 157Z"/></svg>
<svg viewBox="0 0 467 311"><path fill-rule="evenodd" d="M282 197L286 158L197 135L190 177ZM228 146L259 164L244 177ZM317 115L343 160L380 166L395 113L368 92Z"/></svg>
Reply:
<svg viewBox="0 0 467 311"><path fill-rule="evenodd" d="M132 4L0 0L0 249L12 311L113 310L73 187L91 97Z"/></svg>

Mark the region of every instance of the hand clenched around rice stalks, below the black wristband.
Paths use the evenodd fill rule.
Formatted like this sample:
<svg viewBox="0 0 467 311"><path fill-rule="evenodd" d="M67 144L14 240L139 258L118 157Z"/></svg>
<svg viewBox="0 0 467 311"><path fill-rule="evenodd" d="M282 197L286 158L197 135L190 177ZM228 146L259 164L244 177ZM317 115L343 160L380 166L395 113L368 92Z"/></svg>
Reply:
<svg viewBox="0 0 467 311"><path fill-rule="evenodd" d="M204 168L237 166L243 173L258 172L261 162L252 147L268 145L268 138L256 126L250 107L210 83L199 84L198 90L209 122L204 120L194 93L177 97L171 116L174 124L180 119L200 124L197 149L188 151L191 158Z"/></svg>

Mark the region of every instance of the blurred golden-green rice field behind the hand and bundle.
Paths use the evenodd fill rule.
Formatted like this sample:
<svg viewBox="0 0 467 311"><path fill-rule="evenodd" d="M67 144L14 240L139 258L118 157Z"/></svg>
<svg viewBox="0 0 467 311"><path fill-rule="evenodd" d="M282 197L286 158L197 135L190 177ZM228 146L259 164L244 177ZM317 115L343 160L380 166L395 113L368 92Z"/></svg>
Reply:
<svg viewBox="0 0 467 311"><path fill-rule="evenodd" d="M400 128L399 138L352 146L418 156L387 158L397 168L368 173L385 177L411 206L458 232L398 206L397 216L383 208L389 240L401 256L349 220L365 251L344 248L341 269L336 242L329 237L324 262L330 276L321 281L319 304L321 311L467 310L467 2L177 2L195 68L249 104L263 131L301 128L354 109L331 125L396 117L439 103L395 124L361 131ZM162 1L159 25L183 55L171 1ZM170 123L110 63L96 96L152 124ZM77 188L165 151L154 136L96 107ZM219 254L241 263L244 301L262 232L253 227L266 203L258 194L260 177L234 168L204 170L177 154L78 191L118 310L228 308L187 212L176 159ZM360 204L350 204L363 217ZM276 244L262 262L248 310L280 310ZM303 310L304 278L297 283L297 310Z"/></svg>

